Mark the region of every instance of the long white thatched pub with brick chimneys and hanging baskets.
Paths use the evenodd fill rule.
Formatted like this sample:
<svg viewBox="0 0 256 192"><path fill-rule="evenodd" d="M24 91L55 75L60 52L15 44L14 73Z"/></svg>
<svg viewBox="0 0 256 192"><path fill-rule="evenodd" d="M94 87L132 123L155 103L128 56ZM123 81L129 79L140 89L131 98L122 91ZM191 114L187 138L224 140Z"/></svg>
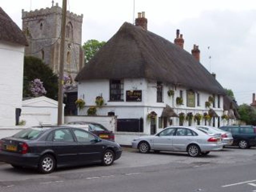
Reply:
<svg viewBox="0 0 256 192"><path fill-rule="evenodd" d="M199 62L198 46L194 45L192 55L185 51L179 30L174 42L147 31L144 13L136 26L124 23L76 76L78 98L86 103L80 115L101 96L104 104L96 114L117 116L117 140L127 141L118 141L122 144L169 125L224 124L225 91ZM177 98L182 98L180 104ZM207 114L209 121L182 121L181 113ZM148 118L149 114L156 118Z"/></svg>

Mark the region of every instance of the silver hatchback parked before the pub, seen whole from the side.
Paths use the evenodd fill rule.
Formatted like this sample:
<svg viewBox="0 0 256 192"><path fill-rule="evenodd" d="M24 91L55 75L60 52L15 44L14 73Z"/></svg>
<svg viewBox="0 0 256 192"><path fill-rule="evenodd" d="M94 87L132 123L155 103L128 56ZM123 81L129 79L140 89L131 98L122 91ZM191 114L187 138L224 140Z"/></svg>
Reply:
<svg viewBox="0 0 256 192"><path fill-rule="evenodd" d="M188 152L192 157L221 150L222 146L220 136L197 127L185 126L168 127L155 135L132 141L132 148L138 148L140 153L148 153L150 150L180 151Z"/></svg>

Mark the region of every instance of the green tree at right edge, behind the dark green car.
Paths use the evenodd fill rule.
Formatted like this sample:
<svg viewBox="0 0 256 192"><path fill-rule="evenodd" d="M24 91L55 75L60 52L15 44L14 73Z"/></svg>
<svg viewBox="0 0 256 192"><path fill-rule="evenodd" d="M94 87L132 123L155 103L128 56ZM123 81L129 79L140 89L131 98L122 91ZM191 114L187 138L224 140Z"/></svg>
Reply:
<svg viewBox="0 0 256 192"><path fill-rule="evenodd" d="M250 105L242 104L238 108L238 113L241 120L248 125L256 125L256 109Z"/></svg>

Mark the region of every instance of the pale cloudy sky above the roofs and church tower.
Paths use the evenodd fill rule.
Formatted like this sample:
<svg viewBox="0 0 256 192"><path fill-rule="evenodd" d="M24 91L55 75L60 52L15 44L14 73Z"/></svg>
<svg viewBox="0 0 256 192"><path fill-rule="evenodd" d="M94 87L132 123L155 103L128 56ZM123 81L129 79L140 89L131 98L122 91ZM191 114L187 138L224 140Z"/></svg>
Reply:
<svg viewBox="0 0 256 192"><path fill-rule="evenodd" d="M21 10L52 6L52 0L0 0L0 6L22 27ZM61 0L54 0L62 6ZM255 0L68 0L68 10L83 14L82 43L108 41L127 21L145 11L148 30L173 42L176 29L191 52L199 45L200 62L224 88L232 89L238 104L252 103L256 92ZM15 4L15 5L14 5ZM133 7L135 10L133 11ZM208 49L208 47L210 47ZM211 59L209 57L211 56Z"/></svg>

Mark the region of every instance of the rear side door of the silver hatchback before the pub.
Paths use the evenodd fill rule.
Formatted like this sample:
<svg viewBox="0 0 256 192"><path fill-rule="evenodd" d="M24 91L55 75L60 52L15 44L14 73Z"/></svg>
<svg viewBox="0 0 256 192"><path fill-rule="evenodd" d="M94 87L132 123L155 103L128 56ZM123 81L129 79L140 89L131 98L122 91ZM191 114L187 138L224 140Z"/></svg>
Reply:
<svg viewBox="0 0 256 192"><path fill-rule="evenodd" d="M177 128L172 141L174 150L186 151L188 144L193 139L194 139L193 131L187 128Z"/></svg>

